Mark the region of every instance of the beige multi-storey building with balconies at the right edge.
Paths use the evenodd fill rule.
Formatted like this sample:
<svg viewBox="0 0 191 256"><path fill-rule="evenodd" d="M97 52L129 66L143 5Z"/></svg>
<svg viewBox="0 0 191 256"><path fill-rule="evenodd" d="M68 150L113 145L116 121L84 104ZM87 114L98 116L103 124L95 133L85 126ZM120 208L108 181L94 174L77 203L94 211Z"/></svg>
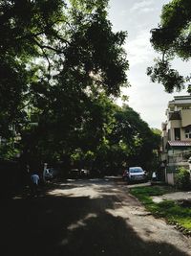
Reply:
<svg viewBox="0 0 191 256"><path fill-rule="evenodd" d="M189 169L191 156L191 96L175 96L166 109L167 120L162 123L161 162L165 180L174 184L180 167Z"/></svg>

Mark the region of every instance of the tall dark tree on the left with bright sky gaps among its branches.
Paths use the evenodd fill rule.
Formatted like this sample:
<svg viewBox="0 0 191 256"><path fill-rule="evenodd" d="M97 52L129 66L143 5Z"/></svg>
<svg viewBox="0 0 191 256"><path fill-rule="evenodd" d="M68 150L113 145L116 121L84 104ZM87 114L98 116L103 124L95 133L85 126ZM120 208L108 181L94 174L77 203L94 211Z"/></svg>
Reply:
<svg viewBox="0 0 191 256"><path fill-rule="evenodd" d="M0 135L15 125L22 151L70 151L91 92L126 85L126 33L112 32L107 3L0 1Z"/></svg>

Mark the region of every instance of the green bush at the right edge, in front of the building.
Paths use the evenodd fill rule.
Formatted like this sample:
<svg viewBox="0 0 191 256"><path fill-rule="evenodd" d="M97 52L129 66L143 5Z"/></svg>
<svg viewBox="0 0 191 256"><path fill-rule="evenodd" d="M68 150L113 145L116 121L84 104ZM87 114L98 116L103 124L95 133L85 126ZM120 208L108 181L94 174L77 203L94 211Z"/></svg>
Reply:
<svg viewBox="0 0 191 256"><path fill-rule="evenodd" d="M178 189L189 190L191 188L190 172L187 169L180 167L175 178L175 184Z"/></svg>

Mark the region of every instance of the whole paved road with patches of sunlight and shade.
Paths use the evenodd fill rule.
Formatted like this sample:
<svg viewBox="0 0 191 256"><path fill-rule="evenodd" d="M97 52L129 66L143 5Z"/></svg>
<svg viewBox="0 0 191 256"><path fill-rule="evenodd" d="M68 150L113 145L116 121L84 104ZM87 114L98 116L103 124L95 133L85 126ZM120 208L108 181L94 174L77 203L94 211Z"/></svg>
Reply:
<svg viewBox="0 0 191 256"><path fill-rule="evenodd" d="M1 255L191 255L191 240L153 218L123 182L68 180L3 201Z"/></svg>

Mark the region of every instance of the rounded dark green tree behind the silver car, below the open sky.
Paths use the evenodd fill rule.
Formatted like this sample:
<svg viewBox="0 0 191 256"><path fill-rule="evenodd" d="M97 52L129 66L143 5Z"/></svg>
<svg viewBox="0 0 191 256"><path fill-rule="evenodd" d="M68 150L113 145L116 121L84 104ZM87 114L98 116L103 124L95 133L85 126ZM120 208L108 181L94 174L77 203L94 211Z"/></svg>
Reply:
<svg viewBox="0 0 191 256"><path fill-rule="evenodd" d="M159 134L154 133L128 105L117 107L115 119L112 132L109 134L108 151L113 165L117 170L123 165L125 167L139 165L151 170L150 163L155 154L154 150L159 149Z"/></svg>

